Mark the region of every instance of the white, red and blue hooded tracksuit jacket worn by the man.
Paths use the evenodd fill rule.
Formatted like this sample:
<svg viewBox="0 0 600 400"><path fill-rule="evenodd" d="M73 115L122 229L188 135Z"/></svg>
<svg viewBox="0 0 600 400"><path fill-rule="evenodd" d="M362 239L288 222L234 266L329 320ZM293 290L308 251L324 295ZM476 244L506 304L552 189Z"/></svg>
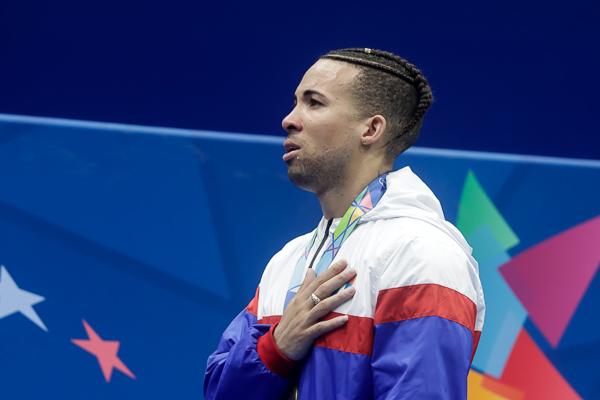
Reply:
<svg viewBox="0 0 600 400"><path fill-rule="evenodd" d="M321 220L309 260L340 220L327 233ZM431 190L408 167L388 175L386 193L334 259L356 269L356 294L325 318L345 314L348 322L294 362L272 332L312 235L273 256L256 296L223 333L208 359L206 399L279 399L290 385L301 400L466 399L483 291L471 248Z"/></svg>

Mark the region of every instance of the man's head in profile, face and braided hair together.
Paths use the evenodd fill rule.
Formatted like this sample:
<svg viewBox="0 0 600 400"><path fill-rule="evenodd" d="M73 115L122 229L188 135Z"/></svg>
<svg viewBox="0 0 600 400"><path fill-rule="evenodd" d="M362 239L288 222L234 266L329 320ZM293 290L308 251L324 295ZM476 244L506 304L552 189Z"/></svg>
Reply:
<svg viewBox="0 0 600 400"><path fill-rule="evenodd" d="M365 170L389 170L416 140L431 92L401 58L346 49L324 55L306 72L294 103L282 122L288 175L319 194Z"/></svg>

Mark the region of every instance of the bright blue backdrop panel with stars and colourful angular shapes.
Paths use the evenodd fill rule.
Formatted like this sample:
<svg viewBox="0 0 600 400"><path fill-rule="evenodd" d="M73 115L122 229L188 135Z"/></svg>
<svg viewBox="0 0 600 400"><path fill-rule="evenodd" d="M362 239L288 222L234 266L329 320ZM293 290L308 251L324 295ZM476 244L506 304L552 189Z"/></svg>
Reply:
<svg viewBox="0 0 600 400"><path fill-rule="evenodd" d="M282 139L0 115L6 398L201 398L207 356L320 208ZM600 398L600 162L414 148L488 306L472 399Z"/></svg>

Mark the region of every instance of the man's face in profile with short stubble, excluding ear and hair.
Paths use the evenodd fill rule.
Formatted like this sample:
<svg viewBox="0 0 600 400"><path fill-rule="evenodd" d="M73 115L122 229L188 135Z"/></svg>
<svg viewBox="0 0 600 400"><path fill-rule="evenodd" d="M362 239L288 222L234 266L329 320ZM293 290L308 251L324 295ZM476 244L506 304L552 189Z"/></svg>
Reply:
<svg viewBox="0 0 600 400"><path fill-rule="evenodd" d="M298 187L317 195L348 177L360 147L351 82L359 70L333 60L317 61L294 94L294 109L283 119L288 176Z"/></svg>

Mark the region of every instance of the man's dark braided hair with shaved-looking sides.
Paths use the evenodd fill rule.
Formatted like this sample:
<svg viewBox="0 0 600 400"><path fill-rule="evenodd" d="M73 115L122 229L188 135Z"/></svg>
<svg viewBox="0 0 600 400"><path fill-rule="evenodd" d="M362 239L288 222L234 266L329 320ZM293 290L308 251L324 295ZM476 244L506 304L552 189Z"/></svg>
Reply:
<svg viewBox="0 0 600 400"><path fill-rule="evenodd" d="M386 161L393 163L419 137L423 116L433 102L421 71L392 53L367 48L334 50L321 58L361 68L353 81L357 110L361 116L384 116L389 137Z"/></svg>

